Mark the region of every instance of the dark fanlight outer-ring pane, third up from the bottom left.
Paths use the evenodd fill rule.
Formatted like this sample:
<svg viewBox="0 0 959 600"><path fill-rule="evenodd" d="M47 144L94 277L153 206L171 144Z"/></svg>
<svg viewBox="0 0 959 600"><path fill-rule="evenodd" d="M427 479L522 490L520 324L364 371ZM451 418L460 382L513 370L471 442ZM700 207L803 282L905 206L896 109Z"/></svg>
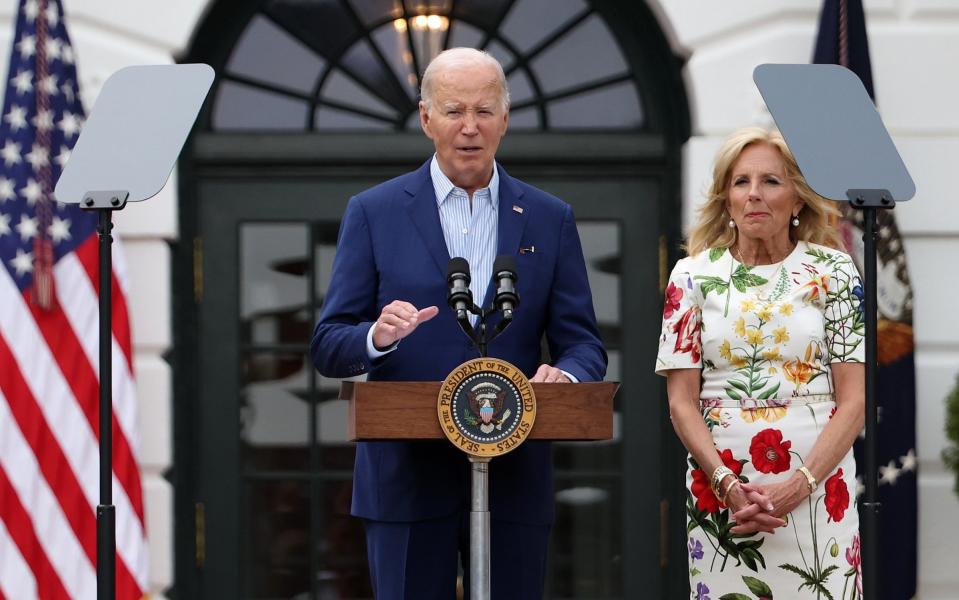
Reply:
<svg viewBox="0 0 959 600"><path fill-rule="evenodd" d="M340 54L361 35L340 0L267 0L264 10L327 59Z"/></svg>

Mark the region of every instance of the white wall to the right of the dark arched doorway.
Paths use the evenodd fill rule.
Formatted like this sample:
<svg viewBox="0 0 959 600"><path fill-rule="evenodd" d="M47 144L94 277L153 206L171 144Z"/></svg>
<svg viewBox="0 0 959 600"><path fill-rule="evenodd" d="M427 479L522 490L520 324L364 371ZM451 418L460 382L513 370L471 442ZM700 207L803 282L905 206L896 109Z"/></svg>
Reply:
<svg viewBox="0 0 959 600"><path fill-rule="evenodd" d="M752 82L764 62L809 62L819 2L657 0L677 52L688 56L693 137L685 148L685 221L705 189L725 135L770 124ZM959 500L940 453L943 399L959 372L959 319L945 318L959 295L959 2L866 0L877 104L916 181L896 217L915 292L919 594L956 597ZM949 266L953 265L953 266Z"/></svg>

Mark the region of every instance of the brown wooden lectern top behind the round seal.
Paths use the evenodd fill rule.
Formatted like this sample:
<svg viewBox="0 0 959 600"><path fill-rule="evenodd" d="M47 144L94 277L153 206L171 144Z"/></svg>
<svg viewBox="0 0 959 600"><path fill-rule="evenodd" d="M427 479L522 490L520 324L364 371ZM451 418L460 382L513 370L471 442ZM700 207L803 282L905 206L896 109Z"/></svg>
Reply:
<svg viewBox="0 0 959 600"><path fill-rule="evenodd" d="M608 440L618 383L534 383L536 422L528 439ZM439 381L346 381L350 441L445 439L436 416Z"/></svg>

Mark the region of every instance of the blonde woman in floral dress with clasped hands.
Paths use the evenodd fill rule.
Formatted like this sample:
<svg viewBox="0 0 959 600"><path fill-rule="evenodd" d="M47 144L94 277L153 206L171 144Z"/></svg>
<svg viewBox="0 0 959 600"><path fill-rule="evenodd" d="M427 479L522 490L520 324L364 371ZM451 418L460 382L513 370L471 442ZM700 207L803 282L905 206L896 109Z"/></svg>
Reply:
<svg viewBox="0 0 959 600"><path fill-rule="evenodd" d="M863 291L835 214L778 132L740 130L666 288L656 372L689 451L697 600L862 597Z"/></svg>

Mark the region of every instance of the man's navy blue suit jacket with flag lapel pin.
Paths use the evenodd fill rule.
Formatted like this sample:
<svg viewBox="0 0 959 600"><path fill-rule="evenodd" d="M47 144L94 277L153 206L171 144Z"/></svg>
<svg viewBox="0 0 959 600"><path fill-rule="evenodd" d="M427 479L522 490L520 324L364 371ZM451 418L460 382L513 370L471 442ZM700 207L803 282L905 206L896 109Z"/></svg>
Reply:
<svg viewBox="0 0 959 600"><path fill-rule="evenodd" d="M499 176L497 254L516 257L520 305L513 323L490 344L489 354L532 376L540 364L545 333L554 366L580 381L599 381L606 372L606 353L572 209L502 169ZM534 252L519 253L520 248L534 246ZM310 345L320 373L350 377L369 372L370 380L436 381L477 357L446 307L449 260L429 161L350 199L329 292ZM492 295L490 285L482 306L490 305ZM367 332L393 300L406 300L417 308L437 305L440 313L417 327L396 350L371 361ZM357 444L355 516L417 521L449 515L464 506L469 506L468 462L448 442ZM490 510L497 519L552 521L549 443L527 442L492 462Z"/></svg>

